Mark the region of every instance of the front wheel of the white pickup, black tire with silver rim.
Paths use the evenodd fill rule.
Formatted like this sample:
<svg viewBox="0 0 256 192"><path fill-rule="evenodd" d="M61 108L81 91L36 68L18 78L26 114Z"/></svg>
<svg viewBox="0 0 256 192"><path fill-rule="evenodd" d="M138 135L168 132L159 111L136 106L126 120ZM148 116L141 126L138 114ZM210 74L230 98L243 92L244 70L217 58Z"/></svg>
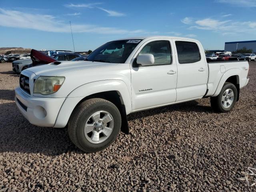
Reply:
<svg viewBox="0 0 256 192"><path fill-rule="evenodd" d="M91 118L98 112L100 112L100 117L95 115L95 119L99 117L100 123L98 120ZM108 116L108 120L112 119L112 121L105 123L103 127L105 116ZM108 120L105 120L105 122ZM87 131L86 124L90 126L91 132ZM97 126L95 126L96 124ZM102 124L102 127L100 124ZM111 127L112 130L110 130ZM100 128L102 130L99 130ZM81 102L76 106L68 121L68 135L70 140L80 150L88 153L98 152L110 146L116 140L120 128L121 115L118 108L108 100L101 98L92 98ZM108 132L109 134L106 134L108 136L104 132Z"/></svg>

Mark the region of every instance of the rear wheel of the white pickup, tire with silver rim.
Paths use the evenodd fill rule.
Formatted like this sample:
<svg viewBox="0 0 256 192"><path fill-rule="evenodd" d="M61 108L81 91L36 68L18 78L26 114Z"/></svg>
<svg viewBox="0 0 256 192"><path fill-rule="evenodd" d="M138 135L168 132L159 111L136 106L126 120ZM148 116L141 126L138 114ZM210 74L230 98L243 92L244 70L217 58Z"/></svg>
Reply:
<svg viewBox="0 0 256 192"><path fill-rule="evenodd" d="M227 90L229 90L229 92L228 92L229 96L232 96L232 92L233 92L233 98L229 97L229 96L224 96L224 95L226 95ZM222 96L224 97L224 101L223 101ZM236 104L236 99L237 99L236 86L232 83L225 82L221 91L220 91L220 94L218 94L218 96L216 96L216 97L211 97L210 102L211 102L212 108L216 112L225 113L225 112L230 112L234 108L234 106ZM225 106L225 102L226 102L226 106Z"/></svg>

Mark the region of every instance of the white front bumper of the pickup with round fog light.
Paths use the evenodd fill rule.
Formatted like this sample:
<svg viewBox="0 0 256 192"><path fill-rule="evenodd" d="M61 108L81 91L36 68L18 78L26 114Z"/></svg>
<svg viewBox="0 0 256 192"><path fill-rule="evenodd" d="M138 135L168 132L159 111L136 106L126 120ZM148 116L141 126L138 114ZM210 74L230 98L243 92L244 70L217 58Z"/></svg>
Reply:
<svg viewBox="0 0 256 192"><path fill-rule="evenodd" d="M29 96L20 87L15 89L16 106L36 126L53 127L65 99Z"/></svg>

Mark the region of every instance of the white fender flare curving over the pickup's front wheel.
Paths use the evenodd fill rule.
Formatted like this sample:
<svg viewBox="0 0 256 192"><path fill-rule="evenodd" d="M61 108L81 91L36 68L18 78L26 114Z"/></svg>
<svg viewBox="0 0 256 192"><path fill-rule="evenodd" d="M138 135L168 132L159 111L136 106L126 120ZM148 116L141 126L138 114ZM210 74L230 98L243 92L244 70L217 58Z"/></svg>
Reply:
<svg viewBox="0 0 256 192"><path fill-rule="evenodd" d="M122 80L102 80L84 84L74 89L68 94L66 100L60 108L58 117L56 119L55 128L63 128L68 123L69 117L72 114L76 105L86 96L92 94L106 92L106 91L117 91L122 104L126 109L126 114L132 111L132 100L129 89L124 81Z"/></svg>

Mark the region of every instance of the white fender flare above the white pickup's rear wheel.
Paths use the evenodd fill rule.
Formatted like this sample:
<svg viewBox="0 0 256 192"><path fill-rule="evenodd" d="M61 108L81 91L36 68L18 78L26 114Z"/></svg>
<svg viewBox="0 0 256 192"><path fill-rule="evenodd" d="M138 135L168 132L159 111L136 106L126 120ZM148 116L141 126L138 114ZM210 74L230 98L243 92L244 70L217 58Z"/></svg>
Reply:
<svg viewBox="0 0 256 192"><path fill-rule="evenodd" d="M240 79L240 69L239 68L233 68L233 69L229 69L227 70L223 75L222 77L220 78L220 82L217 86L217 89L215 91L215 93L212 95L212 97L215 97L217 96L218 94L220 94L220 91L224 85L224 83L226 82L226 80L231 77L231 76L238 76L238 79L237 79L237 84L239 84L239 79Z"/></svg>

